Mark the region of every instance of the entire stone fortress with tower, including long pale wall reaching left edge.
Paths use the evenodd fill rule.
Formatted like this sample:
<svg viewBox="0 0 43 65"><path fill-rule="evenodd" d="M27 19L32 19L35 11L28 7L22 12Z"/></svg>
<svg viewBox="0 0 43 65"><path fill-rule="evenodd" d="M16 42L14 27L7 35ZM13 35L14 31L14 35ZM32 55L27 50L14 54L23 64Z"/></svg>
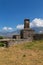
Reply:
<svg viewBox="0 0 43 65"><path fill-rule="evenodd" d="M20 30L20 34L12 35L11 38L0 39L0 42L5 42L5 46L9 47L15 43L32 42L33 40L43 40L43 34L36 34L35 30L30 27L30 20L24 20L24 29Z"/></svg>

